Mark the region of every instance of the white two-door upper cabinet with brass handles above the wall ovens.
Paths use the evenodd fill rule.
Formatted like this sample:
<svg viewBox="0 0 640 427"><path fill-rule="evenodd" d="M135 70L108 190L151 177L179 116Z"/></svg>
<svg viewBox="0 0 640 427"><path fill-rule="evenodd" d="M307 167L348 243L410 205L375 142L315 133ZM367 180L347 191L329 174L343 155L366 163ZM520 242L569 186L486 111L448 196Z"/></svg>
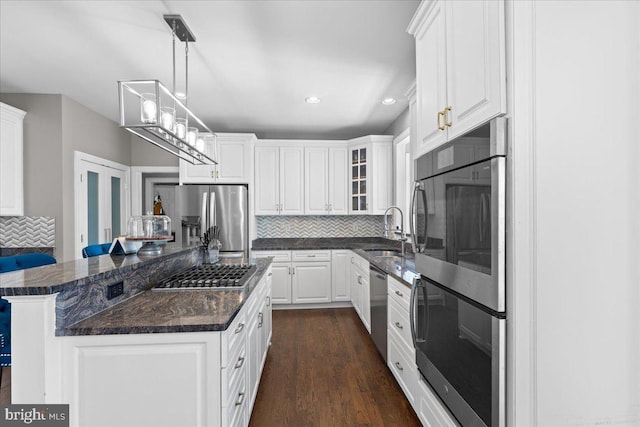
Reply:
<svg viewBox="0 0 640 427"><path fill-rule="evenodd" d="M424 1L416 39L415 156L506 113L504 2Z"/></svg>

